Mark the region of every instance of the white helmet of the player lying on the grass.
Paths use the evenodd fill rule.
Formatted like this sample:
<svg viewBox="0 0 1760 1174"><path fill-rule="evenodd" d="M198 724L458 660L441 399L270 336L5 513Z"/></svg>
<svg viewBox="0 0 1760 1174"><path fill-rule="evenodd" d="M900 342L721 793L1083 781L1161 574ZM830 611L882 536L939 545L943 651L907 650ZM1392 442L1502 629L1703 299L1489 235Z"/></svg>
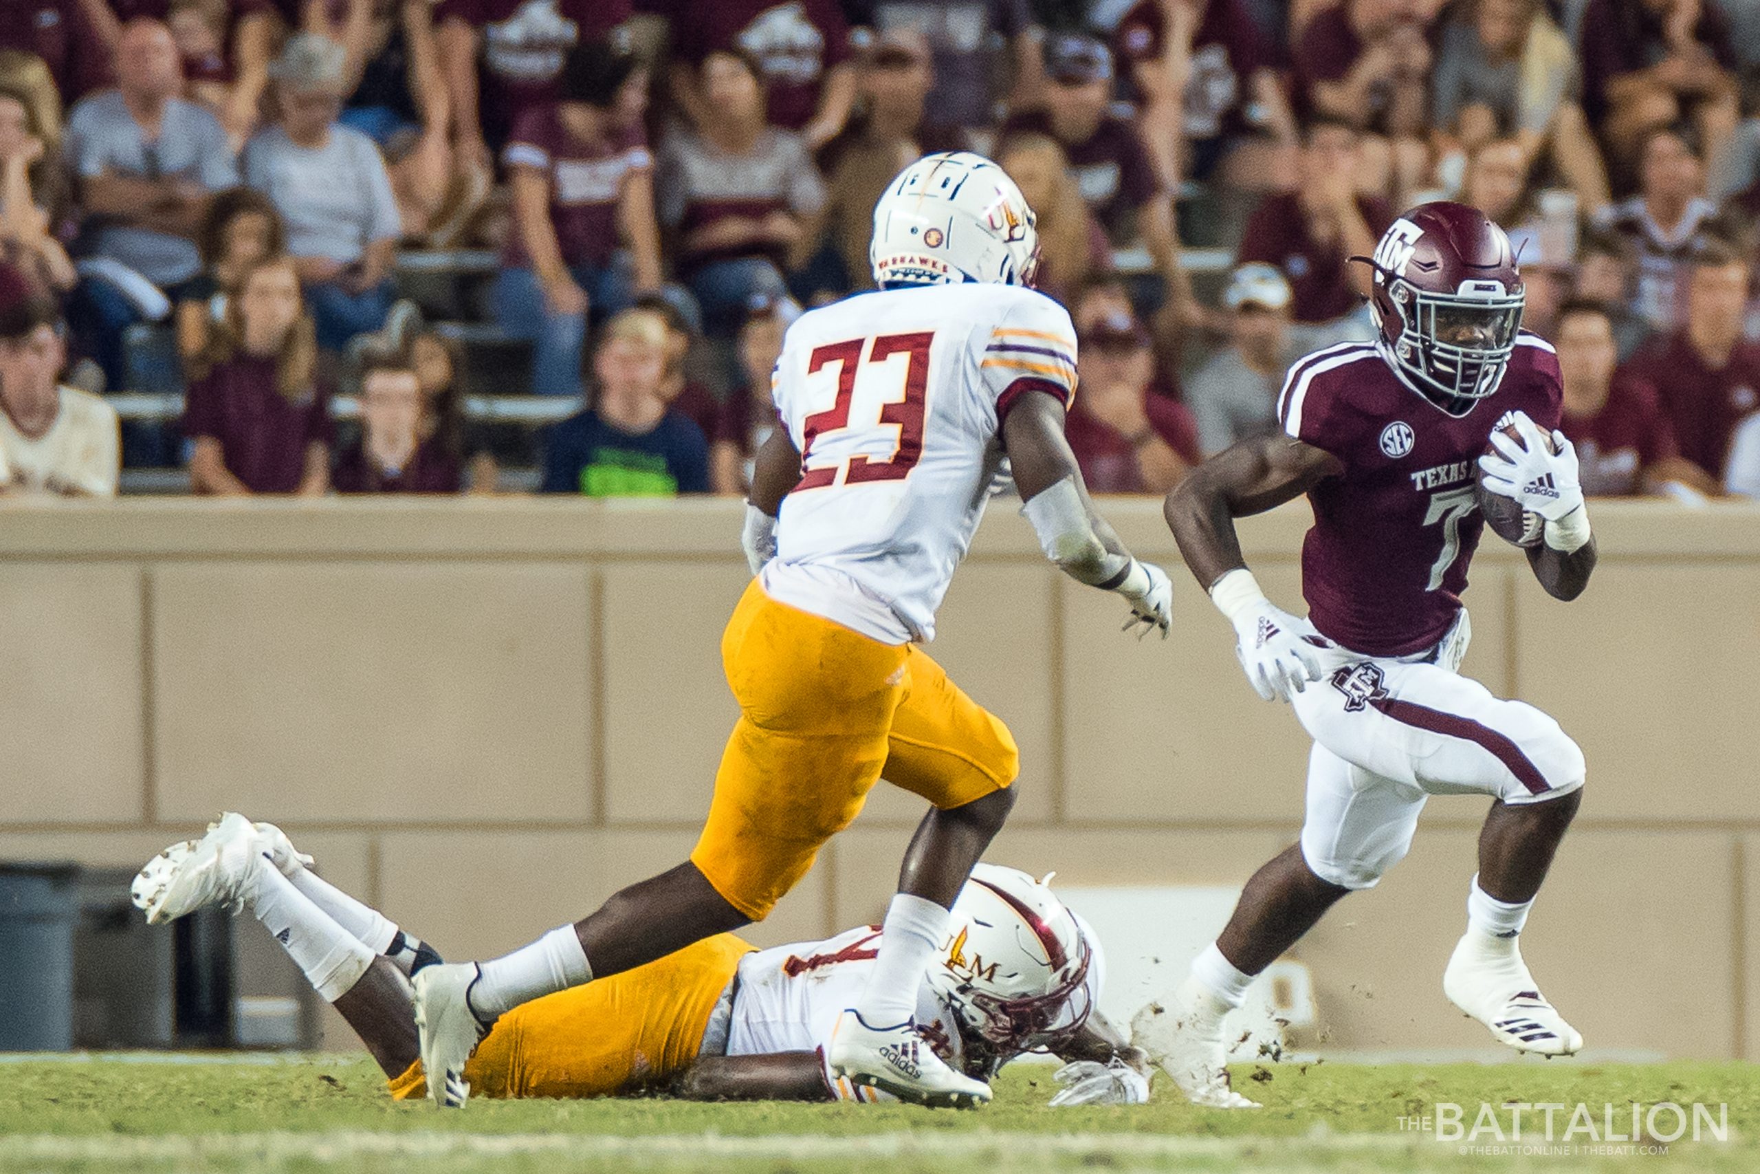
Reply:
<svg viewBox="0 0 1760 1174"><path fill-rule="evenodd" d="M1049 880L1000 864L973 868L954 901L945 952L929 968L936 994L1003 1058L1056 1049L1093 1012L1093 935Z"/></svg>

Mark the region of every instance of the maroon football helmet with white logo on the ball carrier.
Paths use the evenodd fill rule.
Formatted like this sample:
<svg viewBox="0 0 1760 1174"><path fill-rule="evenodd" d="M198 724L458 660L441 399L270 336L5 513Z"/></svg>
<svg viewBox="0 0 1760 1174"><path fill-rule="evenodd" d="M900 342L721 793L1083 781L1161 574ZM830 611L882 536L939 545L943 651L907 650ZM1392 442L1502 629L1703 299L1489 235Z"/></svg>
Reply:
<svg viewBox="0 0 1760 1174"><path fill-rule="evenodd" d="M1382 354L1426 400L1466 415L1498 389L1522 320L1522 275L1503 229L1438 201L1394 220L1368 260Z"/></svg>

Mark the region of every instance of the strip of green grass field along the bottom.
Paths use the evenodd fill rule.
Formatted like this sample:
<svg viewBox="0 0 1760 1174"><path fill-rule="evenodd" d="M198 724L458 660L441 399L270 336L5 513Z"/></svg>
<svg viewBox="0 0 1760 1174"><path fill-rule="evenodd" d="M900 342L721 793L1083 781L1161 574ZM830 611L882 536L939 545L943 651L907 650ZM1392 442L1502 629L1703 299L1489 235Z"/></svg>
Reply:
<svg viewBox="0 0 1760 1174"><path fill-rule="evenodd" d="M1760 1079L1734 1063L1246 1065L1236 1082L1265 1102L1257 1112L1195 1109L1162 1086L1149 1105L1049 1109L1049 1067L1007 1072L996 1104L979 1112L672 1100L472 1102L440 1112L392 1104L371 1063L352 1056L181 1060L0 1063L0 1174L1760 1169ZM1480 1102L1588 1104L1595 1135L1565 1135L1572 1109L1558 1112L1551 1142L1531 1123L1517 1144L1508 1111L1510 1149L1463 1153L1468 1141L1498 1146L1489 1130L1436 1135L1436 1104L1463 1105L1471 1128ZM1628 1102L1705 1102L1712 1114L1725 1104L1728 1141L1695 1144L1688 1132L1667 1153L1633 1153L1661 1146L1642 1132L1639 1142L1603 1137L1607 1104L1614 1132L1630 1134ZM1433 1123L1401 1130L1413 1116ZM1654 1132L1672 1125L1665 1111Z"/></svg>

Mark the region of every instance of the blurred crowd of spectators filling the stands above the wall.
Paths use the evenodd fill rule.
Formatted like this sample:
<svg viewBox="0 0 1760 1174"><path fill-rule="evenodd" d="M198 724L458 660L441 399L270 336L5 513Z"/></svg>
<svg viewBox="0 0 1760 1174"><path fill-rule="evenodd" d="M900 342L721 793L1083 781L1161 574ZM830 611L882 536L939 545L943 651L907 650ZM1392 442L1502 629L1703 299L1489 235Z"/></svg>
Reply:
<svg viewBox="0 0 1760 1174"><path fill-rule="evenodd" d="M788 322L968 148L1038 213L1095 491L1274 428L1373 336L1350 257L1459 199L1586 488L1753 496L1756 107L1760 0L18 0L0 486L743 493ZM558 408L526 481L496 396Z"/></svg>

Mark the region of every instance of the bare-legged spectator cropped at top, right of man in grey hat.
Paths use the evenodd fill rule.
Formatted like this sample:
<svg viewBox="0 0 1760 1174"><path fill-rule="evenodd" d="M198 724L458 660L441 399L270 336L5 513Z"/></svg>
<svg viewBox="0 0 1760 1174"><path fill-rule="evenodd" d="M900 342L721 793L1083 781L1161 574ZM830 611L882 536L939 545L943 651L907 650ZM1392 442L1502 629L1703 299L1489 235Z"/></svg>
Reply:
<svg viewBox="0 0 1760 1174"><path fill-rule="evenodd" d="M449 245L482 206L489 172L454 167L433 5L354 0L350 14L340 30L347 49L341 125L385 153L403 234Z"/></svg>

